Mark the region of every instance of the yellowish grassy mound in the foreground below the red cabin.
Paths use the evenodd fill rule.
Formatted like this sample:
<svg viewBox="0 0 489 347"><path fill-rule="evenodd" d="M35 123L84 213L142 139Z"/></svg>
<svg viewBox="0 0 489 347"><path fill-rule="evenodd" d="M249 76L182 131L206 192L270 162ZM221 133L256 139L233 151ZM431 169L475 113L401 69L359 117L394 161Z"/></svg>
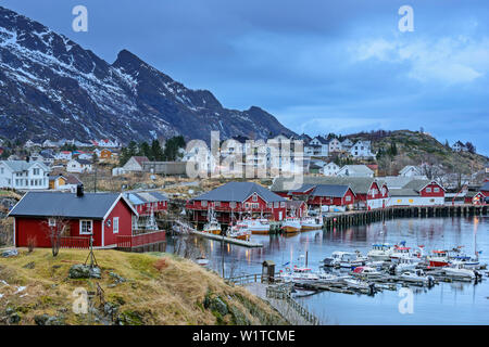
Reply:
<svg viewBox="0 0 489 347"><path fill-rule="evenodd" d="M101 279L75 280L87 250L21 249L0 258L0 324L286 324L266 303L215 273L168 254L96 250ZM76 288L104 291L89 314L76 314Z"/></svg>

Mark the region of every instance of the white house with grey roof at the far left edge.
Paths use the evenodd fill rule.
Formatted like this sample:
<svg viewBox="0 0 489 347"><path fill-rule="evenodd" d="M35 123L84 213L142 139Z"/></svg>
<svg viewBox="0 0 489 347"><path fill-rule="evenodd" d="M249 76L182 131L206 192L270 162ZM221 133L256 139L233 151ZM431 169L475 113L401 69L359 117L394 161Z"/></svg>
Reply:
<svg viewBox="0 0 489 347"><path fill-rule="evenodd" d="M17 190L49 189L49 168L42 162L0 162L0 187Z"/></svg>

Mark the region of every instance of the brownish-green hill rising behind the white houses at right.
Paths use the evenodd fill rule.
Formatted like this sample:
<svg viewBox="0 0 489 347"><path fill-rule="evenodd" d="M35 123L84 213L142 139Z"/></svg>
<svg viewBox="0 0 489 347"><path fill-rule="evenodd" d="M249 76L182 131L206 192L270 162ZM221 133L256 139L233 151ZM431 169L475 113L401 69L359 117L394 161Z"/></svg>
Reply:
<svg viewBox="0 0 489 347"><path fill-rule="evenodd" d="M411 130L397 130L387 133L360 133L349 137L351 140L371 140L375 152L379 149L388 151L396 143L398 154L390 163L392 170L399 170L404 165L429 163L441 165L449 172L469 174L485 168L488 157L468 152L454 152L428 133ZM387 170L390 157L379 160L380 169ZM391 172L396 174L396 172Z"/></svg>

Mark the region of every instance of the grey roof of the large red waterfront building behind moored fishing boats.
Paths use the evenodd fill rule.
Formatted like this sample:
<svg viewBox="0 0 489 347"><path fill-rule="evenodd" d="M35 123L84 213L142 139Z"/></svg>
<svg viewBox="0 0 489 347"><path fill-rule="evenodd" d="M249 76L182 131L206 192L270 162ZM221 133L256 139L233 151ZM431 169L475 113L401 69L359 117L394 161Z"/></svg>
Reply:
<svg viewBox="0 0 489 347"><path fill-rule="evenodd" d="M284 197L272 193L266 188L253 182L229 182L202 195L193 197L192 200L241 203L253 193L258 193L267 203L286 201Z"/></svg>

